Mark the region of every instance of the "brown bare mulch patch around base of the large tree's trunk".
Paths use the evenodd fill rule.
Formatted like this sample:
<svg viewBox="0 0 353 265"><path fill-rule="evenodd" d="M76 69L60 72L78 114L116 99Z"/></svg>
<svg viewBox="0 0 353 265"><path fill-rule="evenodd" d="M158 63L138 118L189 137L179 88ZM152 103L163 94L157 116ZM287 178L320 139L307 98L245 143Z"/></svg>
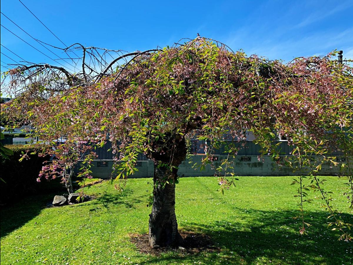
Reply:
<svg viewBox="0 0 353 265"><path fill-rule="evenodd" d="M183 230L179 230L179 234L184 240L183 245L180 247L151 248L148 240L148 234L133 234L131 235L131 242L136 245L140 253L151 254L154 256L159 256L161 253L168 251L196 254L201 251L214 252L220 250L219 248L213 246L211 238L208 235Z"/></svg>

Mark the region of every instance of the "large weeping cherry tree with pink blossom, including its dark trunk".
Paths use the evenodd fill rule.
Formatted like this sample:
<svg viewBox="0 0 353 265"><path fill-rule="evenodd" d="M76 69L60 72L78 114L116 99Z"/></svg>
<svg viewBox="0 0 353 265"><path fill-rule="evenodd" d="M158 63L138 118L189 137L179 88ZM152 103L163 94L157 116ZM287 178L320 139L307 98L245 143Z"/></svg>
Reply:
<svg viewBox="0 0 353 265"><path fill-rule="evenodd" d="M16 98L3 114L34 126L44 142L67 137L55 150L58 160L44 166L40 177L70 175L79 160L79 174L89 176L92 149L109 140L116 178L124 179L137 170L143 153L154 162L150 246L178 246L175 184L190 140L207 140L201 168L213 164L214 151L225 147L228 156L216 168L223 192L234 184L234 159L250 131L263 155L298 172L311 169L311 183L304 183L304 176L294 181L301 213L309 201L305 191L318 190L330 212L329 225L351 240L351 224L337 216L329 191L322 188L324 180L317 177L324 163L339 168L347 178L344 192L352 207L352 67L333 60L335 52L284 64L197 37L173 47L119 54L108 63L107 54L120 51L76 48L83 51L78 60L82 69L76 73L26 64L6 76L7 89ZM278 135L286 135L294 147L290 156L280 156ZM344 153L346 163L327 155L333 146ZM314 161L311 155L316 155ZM303 214L300 218L304 233L309 224Z"/></svg>

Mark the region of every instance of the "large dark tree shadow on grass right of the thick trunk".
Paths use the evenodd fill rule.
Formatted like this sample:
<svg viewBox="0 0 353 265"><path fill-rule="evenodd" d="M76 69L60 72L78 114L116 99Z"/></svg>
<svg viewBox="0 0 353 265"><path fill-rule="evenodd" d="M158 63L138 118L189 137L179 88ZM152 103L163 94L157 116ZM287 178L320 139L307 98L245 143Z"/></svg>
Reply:
<svg viewBox="0 0 353 265"><path fill-rule="evenodd" d="M331 231L326 212L309 212L312 224L307 234L299 234L300 222L293 220L296 211L255 211L229 222L218 220L210 224L188 223L183 230L210 236L219 252L188 255L181 252L150 257L147 263L196 264L350 264L353 261L352 242L338 241L339 233ZM260 217L260 218L259 218ZM312 217L312 219L311 219ZM238 217L239 218L239 217ZM343 214L353 222L352 214ZM246 219L248 219L248 222ZM143 264L143 263L140 263Z"/></svg>

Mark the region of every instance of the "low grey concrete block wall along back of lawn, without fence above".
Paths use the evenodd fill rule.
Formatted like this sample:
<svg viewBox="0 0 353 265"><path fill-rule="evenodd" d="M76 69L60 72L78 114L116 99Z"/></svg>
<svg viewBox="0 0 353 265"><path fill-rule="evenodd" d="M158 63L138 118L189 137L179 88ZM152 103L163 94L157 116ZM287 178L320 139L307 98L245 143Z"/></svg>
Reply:
<svg viewBox="0 0 353 265"><path fill-rule="evenodd" d="M205 169L201 171L199 167L193 168L192 165L201 165L201 159L203 155L194 155L190 159L183 161L180 164L178 175L180 177L198 177L198 176L214 176L216 173L215 168L220 166L221 160L226 159L227 155L216 155L216 161L213 161L213 166L206 165ZM312 156L313 161L321 159L319 156ZM112 174L113 160L94 160L92 170L92 176L98 178L110 178ZM340 164L347 163L344 157L337 156L337 162ZM353 163L353 158L350 158L350 163ZM279 163L282 164L282 163ZM232 162L234 169L228 169L227 173L234 172L236 176L297 176L300 174L298 171L284 165L278 165L269 156L263 156L261 161L258 161L256 155L237 155L234 162ZM151 160L138 161L136 168L137 172L134 173L132 178L142 177L153 177L154 165ZM310 169L303 168L302 174L307 175ZM220 172L224 175L226 172ZM337 175L339 169L336 166L331 166L329 163L325 163L319 175ZM115 174L116 176L116 174ZM113 177L115 177L113 176Z"/></svg>

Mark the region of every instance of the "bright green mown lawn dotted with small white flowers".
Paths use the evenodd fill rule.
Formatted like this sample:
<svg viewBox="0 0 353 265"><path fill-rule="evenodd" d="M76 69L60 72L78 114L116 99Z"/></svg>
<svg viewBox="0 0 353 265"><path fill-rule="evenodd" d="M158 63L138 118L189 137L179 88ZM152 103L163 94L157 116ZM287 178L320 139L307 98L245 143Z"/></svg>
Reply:
<svg viewBox="0 0 353 265"><path fill-rule="evenodd" d="M333 206L353 222L344 179L325 177ZM103 182L87 190L97 199L46 208L52 195L32 196L1 210L1 264L350 264L352 242L337 241L325 225L322 200L305 205L311 223L299 235L299 214L292 177L240 177L222 195L212 177L182 178L177 185L180 229L211 237L220 252L160 257L141 254L132 233L148 232L146 207L150 179L130 179L122 194ZM319 196L310 193L310 197Z"/></svg>

